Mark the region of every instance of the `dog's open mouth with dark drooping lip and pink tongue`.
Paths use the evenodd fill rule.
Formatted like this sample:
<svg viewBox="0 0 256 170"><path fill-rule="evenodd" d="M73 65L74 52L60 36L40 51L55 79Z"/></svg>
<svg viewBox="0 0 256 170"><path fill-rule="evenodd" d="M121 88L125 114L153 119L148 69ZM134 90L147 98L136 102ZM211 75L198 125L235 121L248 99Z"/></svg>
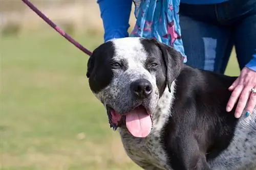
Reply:
<svg viewBox="0 0 256 170"><path fill-rule="evenodd" d="M140 105L125 114L117 113L113 108L106 107L110 127L115 131L118 127L126 126L127 130L135 137L146 137L150 134L153 124L152 114Z"/></svg>

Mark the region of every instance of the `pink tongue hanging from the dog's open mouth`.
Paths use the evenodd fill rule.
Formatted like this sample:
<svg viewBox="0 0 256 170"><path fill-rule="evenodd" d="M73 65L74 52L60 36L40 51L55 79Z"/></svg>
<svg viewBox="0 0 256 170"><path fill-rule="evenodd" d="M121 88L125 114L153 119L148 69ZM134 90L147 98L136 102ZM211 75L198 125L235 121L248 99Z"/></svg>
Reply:
<svg viewBox="0 0 256 170"><path fill-rule="evenodd" d="M146 137L152 128L151 117L144 108L136 108L126 114L126 128L135 137Z"/></svg>

